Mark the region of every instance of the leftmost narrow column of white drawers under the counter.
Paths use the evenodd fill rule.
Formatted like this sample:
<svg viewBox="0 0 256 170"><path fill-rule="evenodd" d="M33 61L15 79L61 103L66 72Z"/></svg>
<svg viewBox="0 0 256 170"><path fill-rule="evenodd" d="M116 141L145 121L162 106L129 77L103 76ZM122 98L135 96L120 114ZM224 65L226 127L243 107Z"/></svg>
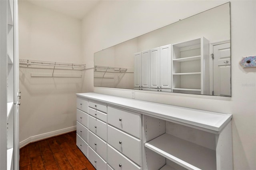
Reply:
<svg viewBox="0 0 256 170"><path fill-rule="evenodd" d="M76 145L88 156L88 100L76 99Z"/></svg>

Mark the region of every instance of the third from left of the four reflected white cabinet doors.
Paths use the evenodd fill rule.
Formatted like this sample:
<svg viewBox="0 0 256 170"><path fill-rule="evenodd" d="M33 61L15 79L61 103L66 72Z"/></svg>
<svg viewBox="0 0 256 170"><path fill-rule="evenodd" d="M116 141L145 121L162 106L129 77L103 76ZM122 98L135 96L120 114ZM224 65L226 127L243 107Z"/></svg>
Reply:
<svg viewBox="0 0 256 170"><path fill-rule="evenodd" d="M160 48L150 50L150 88L159 88Z"/></svg>

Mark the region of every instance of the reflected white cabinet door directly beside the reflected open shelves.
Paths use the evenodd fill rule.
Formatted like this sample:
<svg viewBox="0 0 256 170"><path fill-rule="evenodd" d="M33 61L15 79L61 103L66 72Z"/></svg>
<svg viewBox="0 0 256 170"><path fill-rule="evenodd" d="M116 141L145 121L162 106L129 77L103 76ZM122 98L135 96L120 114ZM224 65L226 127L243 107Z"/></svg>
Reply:
<svg viewBox="0 0 256 170"><path fill-rule="evenodd" d="M172 84L171 45L160 47L160 88L171 89Z"/></svg>

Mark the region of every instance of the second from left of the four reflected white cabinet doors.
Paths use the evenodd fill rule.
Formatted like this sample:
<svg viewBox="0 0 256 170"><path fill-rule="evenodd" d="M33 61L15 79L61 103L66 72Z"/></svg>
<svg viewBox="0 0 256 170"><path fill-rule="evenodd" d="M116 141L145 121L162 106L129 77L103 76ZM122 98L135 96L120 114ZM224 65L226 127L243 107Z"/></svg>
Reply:
<svg viewBox="0 0 256 170"><path fill-rule="evenodd" d="M141 53L141 87L149 88L149 67L150 67L150 51L142 51Z"/></svg>

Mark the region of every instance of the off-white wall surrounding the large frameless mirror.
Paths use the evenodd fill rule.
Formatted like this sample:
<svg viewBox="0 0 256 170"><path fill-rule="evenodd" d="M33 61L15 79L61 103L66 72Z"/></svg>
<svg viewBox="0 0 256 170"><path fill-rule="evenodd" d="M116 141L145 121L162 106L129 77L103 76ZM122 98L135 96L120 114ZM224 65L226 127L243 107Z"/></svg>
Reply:
<svg viewBox="0 0 256 170"><path fill-rule="evenodd" d="M145 34L227 1L104 1L82 21L83 56L93 67L94 52ZM154 21L154 22L151 22ZM134 26L136 25L136 26ZM256 169L256 68L243 69L242 56L256 54L256 1L231 1L232 97L136 91L138 100L232 113L235 170ZM130 90L93 87L86 71L83 92L130 98Z"/></svg>

